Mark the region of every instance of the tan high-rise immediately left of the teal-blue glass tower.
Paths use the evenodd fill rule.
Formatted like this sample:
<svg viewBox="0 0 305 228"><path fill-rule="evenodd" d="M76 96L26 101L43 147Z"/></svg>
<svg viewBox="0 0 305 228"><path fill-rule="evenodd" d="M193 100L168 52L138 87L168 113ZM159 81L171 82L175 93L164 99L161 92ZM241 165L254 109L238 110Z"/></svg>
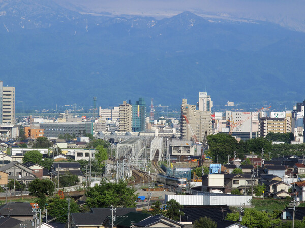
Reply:
<svg viewBox="0 0 305 228"><path fill-rule="evenodd" d="M119 105L119 131L120 132L131 132L132 125L132 105L123 101L123 104Z"/></svg>

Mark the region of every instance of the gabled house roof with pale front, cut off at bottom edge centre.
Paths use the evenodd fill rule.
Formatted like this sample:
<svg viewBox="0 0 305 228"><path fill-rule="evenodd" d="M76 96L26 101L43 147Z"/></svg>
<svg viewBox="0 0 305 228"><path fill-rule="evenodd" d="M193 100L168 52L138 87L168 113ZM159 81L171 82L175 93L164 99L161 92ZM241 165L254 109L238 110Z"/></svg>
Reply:
<svg viewBox="0 0 305 228"><path fill-rule="evenodd" d="M136 227L184 227L185 225L162 215L150 216L135 224Z"/></svg>

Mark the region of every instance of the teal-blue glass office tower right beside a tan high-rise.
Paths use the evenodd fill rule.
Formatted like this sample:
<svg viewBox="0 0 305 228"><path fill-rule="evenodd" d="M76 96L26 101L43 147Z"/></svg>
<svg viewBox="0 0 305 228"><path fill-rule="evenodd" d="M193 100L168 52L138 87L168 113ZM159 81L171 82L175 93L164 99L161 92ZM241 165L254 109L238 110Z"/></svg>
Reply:
<svg viewBox="0 0 305 228"><path fill-rule="evenodd" d="M139 98L136 104L132 105L132 131L145 131L146 105L144 98Z"/></svg>

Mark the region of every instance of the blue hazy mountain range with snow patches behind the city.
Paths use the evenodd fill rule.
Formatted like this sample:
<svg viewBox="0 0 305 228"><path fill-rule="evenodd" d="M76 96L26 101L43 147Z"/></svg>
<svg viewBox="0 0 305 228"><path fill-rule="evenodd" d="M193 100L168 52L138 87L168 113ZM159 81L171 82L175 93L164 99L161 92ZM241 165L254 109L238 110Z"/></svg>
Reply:
<svg viewBox="0 0 305 228"><path fill-rule="evenodd" d="M3 0L0 37L0 79L23 109L91 106L94 96L102 107L138 97L178 106L199 91L215 106L290 109L305 97L305 34L262 21L104 17Z"/></svg>

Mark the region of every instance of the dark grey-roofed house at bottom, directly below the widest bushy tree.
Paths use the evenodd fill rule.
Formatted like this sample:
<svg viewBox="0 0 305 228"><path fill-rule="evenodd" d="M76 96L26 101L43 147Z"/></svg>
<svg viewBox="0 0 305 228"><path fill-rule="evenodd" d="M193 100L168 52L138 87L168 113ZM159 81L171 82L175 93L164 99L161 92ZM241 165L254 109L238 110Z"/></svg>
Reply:
<svg viewBox="0 0 305 228"><path fill-rule="evenodd" d="M116 208L114 216L124 216L129 212L136 212L135 208ZM89 213L71 213L72 228L101 228L108 224L107 217L111 216L111 208L92 208Z"/></svg>

